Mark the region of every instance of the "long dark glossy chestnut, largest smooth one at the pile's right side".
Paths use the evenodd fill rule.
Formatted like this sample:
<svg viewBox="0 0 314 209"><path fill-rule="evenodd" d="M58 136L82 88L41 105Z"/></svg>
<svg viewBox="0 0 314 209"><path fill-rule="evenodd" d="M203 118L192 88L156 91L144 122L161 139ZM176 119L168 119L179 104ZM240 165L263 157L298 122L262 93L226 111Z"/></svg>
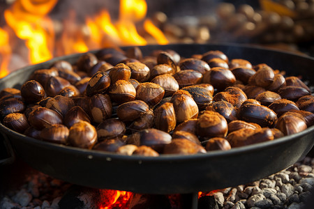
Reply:
<svg viewBox="0 0 314 209"><path fill-rule="evenodd" d="M277 121L277 115L268 107L258 104L242 104L238 118L248 123L257 123L261 127L272 127Z"/></svg>

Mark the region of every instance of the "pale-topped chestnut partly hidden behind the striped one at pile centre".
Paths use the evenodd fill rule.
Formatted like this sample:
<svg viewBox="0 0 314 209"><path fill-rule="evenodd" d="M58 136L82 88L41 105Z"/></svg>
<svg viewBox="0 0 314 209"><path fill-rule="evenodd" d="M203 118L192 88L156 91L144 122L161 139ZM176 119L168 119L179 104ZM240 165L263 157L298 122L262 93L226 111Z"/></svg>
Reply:
<svg viewBox="0 0 314 209"><path fill-rule="evenodd" d="M152 83L158 84L165 90L165 97L171 96L179 90L179 84L174 77L169 74L158 75L151 80Z"/></svg>

